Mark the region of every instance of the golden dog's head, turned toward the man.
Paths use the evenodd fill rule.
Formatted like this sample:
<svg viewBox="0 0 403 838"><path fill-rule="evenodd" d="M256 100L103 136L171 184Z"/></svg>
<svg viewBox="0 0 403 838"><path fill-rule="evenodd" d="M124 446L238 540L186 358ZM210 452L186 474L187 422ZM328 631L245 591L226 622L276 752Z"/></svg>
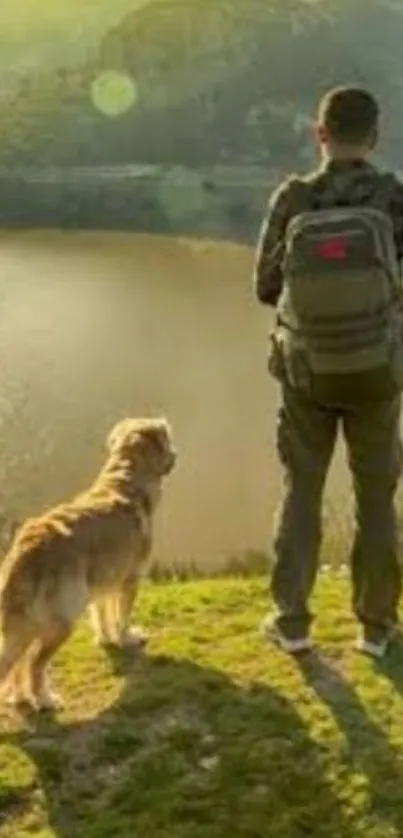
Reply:
<svg viewBox="0 0 403 838"><path fill-rule="evenodd" d="M177 452L166 419L122 419L111 430L107 447L159 477L172 471Z"/></svg>

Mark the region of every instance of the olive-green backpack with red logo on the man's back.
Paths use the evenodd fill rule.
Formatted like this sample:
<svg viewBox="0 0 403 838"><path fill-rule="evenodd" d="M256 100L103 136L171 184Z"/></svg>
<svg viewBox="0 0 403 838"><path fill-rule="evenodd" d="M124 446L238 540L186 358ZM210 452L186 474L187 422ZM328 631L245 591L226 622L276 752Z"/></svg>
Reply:
<svg viewBox="0 0 403 838"><path fill-rule="evenodd" d="M295 181L277 305L291 378L331 402L379 400L403 388L403 291L392 219L394 179L370 205L312 210ZM298 378L299 373L299 378Z"/></svg>

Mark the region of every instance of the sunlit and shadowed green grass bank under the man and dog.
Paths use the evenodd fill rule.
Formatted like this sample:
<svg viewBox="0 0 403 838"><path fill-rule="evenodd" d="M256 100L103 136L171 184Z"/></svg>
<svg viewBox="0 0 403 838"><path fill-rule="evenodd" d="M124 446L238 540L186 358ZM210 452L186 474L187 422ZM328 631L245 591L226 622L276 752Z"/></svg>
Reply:
<svg viewBox="0 0 403 838"><path fill-rule="evenodd" d="M66 710L0 716L1 838L387 838L403 832L403 649L352 650L347 580L315 597L322 655L262 643L262 578L146 586L148 654L86 625L60 653Z"/></svg>

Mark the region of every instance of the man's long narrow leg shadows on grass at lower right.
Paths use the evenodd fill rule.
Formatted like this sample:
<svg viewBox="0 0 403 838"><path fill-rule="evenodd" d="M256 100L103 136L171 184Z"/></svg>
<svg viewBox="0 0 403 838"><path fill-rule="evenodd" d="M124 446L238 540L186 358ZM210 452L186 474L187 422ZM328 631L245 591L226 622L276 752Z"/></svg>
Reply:
<svg viewBox="0 0 403 838"><path fill-rule="evenodd" d="M327 705L346 738L346 770L356 777L363 777L368 784L369 821L372 826L380 821L381 829L387 830L376 832L376 835L392 834L389 832L390 827L396 830L393 834L402 834L402 751L388 739L387 718L384 727L371 719L354 687L320 653L301 657L298 666L317 697ZM401 651L400 654L391 653L387 663L374 662L374 668L378 674L380 671L385 674L387 669L395 685L396 675L400 673L398 677L403 692Z"/></svg>

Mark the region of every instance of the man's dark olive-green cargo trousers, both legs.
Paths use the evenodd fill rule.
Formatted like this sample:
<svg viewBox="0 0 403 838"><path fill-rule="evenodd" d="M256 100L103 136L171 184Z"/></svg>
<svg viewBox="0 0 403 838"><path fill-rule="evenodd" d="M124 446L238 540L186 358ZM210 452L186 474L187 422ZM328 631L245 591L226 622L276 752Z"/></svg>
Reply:
<svg viewBox="0 0 403 838"><path fill-rule="evenodd" d="M311 622L308 604L318 571L322 494L340 425L356 503L353 609L374 630L396 622L401 592L394 506L402 468L399 422L400 398L332 410L282 385L277 445L284 495L275 527L272 594L279 628L287 636L305 634Z"/></svg>

